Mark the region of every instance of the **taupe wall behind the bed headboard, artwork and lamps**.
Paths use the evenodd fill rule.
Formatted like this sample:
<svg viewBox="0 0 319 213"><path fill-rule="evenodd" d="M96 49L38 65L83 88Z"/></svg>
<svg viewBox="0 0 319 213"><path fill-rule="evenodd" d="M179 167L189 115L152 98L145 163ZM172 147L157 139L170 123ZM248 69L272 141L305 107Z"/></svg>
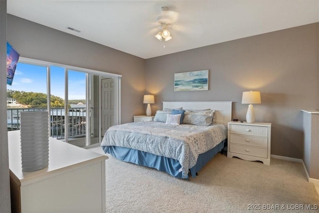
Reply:
<svg viewBox="0 0 319 213"><path fill-rule="evenodd" d="M319 108L318 23L146 60L146 88L161 101L233 101L246 120L243 91L261 92L256 122L271 122L271 154L303 158L301 109ZM174 92L174 73L209 69L209 90Z"/></svg>

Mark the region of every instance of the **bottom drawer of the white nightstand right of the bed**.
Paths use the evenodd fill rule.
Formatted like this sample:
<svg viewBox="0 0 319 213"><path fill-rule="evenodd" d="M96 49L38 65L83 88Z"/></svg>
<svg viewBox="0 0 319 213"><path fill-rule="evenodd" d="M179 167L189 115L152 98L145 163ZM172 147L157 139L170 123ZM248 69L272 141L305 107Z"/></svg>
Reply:
<svg viewBox="0 0 319 213"><path fill-rule="evenodd" d="M260 158L267 158L267 149L264 148L258 148L258 147L250 147L250 146L243 146L238 144L230 144L230 152L243 154L243 155L249 155L249 156L255 156Z"/></svg>

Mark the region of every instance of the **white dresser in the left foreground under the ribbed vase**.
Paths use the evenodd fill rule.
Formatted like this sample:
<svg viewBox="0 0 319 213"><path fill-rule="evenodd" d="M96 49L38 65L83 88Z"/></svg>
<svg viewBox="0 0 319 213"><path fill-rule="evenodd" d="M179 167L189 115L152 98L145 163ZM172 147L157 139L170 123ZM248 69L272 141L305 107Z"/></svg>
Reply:
<svg viewBox="0 0 319 213"><path fill-rule="evenodd" d="M12 212L105 212L107 156L49 138L49 166L22 172L20 131L8 132Z"/></svg>

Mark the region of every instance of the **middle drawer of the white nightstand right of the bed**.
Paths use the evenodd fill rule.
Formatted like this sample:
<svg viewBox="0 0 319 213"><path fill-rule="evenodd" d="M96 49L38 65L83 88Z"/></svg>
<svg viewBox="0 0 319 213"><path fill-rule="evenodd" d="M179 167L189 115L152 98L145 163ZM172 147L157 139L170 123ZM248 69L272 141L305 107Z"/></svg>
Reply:
<svg viewBox="0 0 319 213"><path fill-rule="evenodd" d="M230 134L229 143L243 144L249 146L268 147L268 139L246 135Z"/></svg>

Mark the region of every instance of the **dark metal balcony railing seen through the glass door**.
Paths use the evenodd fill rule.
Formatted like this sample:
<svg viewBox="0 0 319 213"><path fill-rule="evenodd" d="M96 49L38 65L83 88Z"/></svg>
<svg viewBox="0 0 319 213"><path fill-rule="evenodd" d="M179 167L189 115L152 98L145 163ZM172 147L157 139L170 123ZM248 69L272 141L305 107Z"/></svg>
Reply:
<svg viewBox="0 0 319 213"><path fill-rule="evenodd" d="M20 129L20 112L47 111L46 108L7 108L7 130ZM83 137L86 133L86 109L84 107L69 108L68 112L69 138ZM36 122L36 121L34 121ZM64 108L51 108L50 113L51 137L63 139L65 137L65 111Z"/></svg>

